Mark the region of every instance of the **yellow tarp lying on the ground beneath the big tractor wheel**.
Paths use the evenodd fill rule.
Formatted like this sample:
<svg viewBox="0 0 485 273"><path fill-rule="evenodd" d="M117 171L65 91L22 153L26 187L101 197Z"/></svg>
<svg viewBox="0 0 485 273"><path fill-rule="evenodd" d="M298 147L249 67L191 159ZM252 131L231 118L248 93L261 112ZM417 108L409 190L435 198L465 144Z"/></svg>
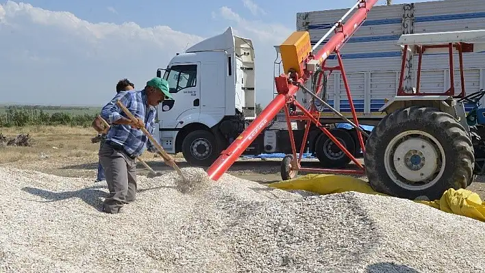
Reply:
<svg viewBox="0 0 485 273"><path fill-rule="evenodd" d="M361 179L336 174L307 174L303 177L271 183L269 187L281 190L305 190L322 195L341 192L362 192L388 196L375 192L369 183ZM414 202L485 222L485 202L482 202L478 194L469 190L449 189L441 196L440 200L415 200Z"/></svg>

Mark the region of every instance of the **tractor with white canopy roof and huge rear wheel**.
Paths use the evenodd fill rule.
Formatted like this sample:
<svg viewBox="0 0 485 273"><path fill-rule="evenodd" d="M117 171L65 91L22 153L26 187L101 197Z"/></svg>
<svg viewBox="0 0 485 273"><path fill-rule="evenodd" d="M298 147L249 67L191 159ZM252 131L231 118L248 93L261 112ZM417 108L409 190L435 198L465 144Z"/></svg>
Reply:
<svg viewBox="0 0 485 273"><path fill-rule="evenodd" d="M485 109L480 107L485 92L467 94L463 68L465 54L485 51L485 30L405 34L397 45L403 48L399 88L380 109L386 116L366 141L366 176L377 192L436 200L485 172ZM449 86L444 92L420 92L423 57L436 60L440 51L449 56ZM460 66L457 85L453 53ZM415 88L404 87L408 54L419 56Z"/></svg>

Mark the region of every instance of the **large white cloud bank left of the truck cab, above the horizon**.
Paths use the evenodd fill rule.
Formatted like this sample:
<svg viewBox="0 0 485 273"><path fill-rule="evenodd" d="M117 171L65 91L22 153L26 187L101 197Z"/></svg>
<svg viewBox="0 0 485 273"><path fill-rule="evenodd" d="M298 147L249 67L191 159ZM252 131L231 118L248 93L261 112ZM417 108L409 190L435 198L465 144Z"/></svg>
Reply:
<svg viewBox="0 0 485 273"><path fill-rule="evenodd" d="M142 88L201 37L168 26L90 23L8 1L0 5L0 102L101 105L128 77Z"/></svg>

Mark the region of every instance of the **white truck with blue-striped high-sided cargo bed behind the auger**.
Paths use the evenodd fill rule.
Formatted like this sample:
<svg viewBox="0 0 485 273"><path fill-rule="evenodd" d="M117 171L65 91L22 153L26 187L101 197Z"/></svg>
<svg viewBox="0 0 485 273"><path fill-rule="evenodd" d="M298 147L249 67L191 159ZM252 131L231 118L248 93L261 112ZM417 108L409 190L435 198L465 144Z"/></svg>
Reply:
<svg viewBox="0 0 485 273"><path fill-rule="evenodd" d="M396 94L401 70L401 49L396 44L401 34L484 29L482 3L483 0L446 0L373 8L342 50L360 124L377 125L386 115L379 111L380 107ZM297 30L309 31L311 38L320 38L345 12L298 13ZM156 138L168 153L182 152L189 164L209 166L249 125L256 116L254 54L251 40L234 36L229 27L223 34L177 54L165 69L158 69L158 77L169 81L174 98L160 104L158 111ZM447 90L446 60L433 55L425 58L421 90ZM471 53L465 58L467 93L477 92L485 87L485 54ZM327 66L337 65L332 56L329 59ZM405 88L416 81L416 59L410 56L406 63ZM325 100L351 119L340 73L327 76L322 93ZM456 92L460 92L460 81L455 81L455 85ZM310 102L303 92L297 94L299 102ZM321 120L332 127L332 133L351 153L360 153L355 129L337 123L342 120L328 109L323 109ZM299 148L304 125L293 122L292 127ZM308 152L316 155L323 167L339 168L350 161L318 128L310 129L307 144ZM291 153L283 113L245 151L251 155L260 153Z"/></svg>

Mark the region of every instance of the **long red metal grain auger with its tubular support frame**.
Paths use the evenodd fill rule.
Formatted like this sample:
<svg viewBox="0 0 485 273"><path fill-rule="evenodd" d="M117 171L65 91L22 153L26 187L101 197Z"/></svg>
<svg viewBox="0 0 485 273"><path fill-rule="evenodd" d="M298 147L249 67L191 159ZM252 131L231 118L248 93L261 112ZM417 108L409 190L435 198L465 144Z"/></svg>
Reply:
<svg viewBox="0 0 485 273"><path fill-rule="evenodd" d="M358 119L356 114L356 109L353 106L352 96L349 90L349 84L347 81L347 76L345 75L345 70L343 67L342 57L340 56L340 48L343 47L345 42L349 40L351 36L357 31L357 29L362 25L365 21L369 10L373 8L373 6L377 3L377 0L358 0L358 10L349 18L349 20L342 24L341 21L338 22L338 29L335 29L335 35L332 36L324 45L323 47L315 54L310 55L306 62L310 60L319 60L319 64L325 64L325 60L331 53L336 53L339 66L336 68L325 68L323 70L340 70L343 75L343 81L345 83L345 89L347 90L347 98L349 99L349 103L351 106L351 112L353 116L353 122L358 126ZM356 4L357 5L357 4ZM303 66L305 68L306 66ZM293 151L293 158L295 163L292 164L291 168L295 168L296 170L308 170L312 172L326 172L326 173L364 173L364 166L360 164L347 149L340 144L325 127L321 126L318 118L315 116L319 116L317 111L315 111L314 107L312 107L311 112L309 112L305 107L301 106L297 101L295 101L294 97L297 91L299 90L299 86L303 86L303 84L312 76L310 71L303 69L302 75L298 73L289 73L288 75L280 75L279 77L275 77L275 86L277 90L277 96L266 106L262 112L256 117L253 122L243 131L234 142L225 150L221 152L221 155L218 159L210 166L208 169L208 176L210 179L217 181L219 178L224 174L224 172L234 164L240 155L245 151L245 149L253 142L253 140L258 136L261 131L266 127L266 125L273 120L276 114L281 110L284 109L286 122L288 125L288 133L290 135L290 142ZM318 86L321 84L321 77L319 77ZM303 116L292 116L290 115L288 104L293 104L297 108L303 112ZM296 156L296 145L295 139L293 137L293 130L291 128L292 119L299 119L299 120L307 120L306 123L306 132L303 138L308 137L308 131L310 129L310 122L313 122L316 126L325 133L352 161L354 161L357 166L361 170L330 170L330 169L312 169L312 168L300 168L299 162L301 161L301 154L300 157L297 159ZM362 151L364 150L364 141L362 139L362 134L358 131L358 138L359 142L362 147ZM306 144L303 143L302 146L304 148ZM301 150L301 149L300 149ZM301 150L302 151L302 150Z"/></svg>

